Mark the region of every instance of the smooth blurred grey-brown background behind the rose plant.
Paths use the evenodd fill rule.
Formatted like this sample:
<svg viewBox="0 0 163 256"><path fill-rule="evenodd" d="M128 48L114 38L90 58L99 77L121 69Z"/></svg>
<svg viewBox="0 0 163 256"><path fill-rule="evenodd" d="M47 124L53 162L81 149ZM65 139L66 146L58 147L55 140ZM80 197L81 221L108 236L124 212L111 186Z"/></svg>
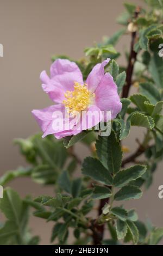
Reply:
<svg viewBox="0 0 163 256"><path fill-rule="evenodd" d="M142 4L143 1L128 2ZM116 17L123 10L122 3L122 0L0 0L0 43L4 46L4 57L0 58L1 175L25 164L12 139L26 138L40 131L30 113L32 109L52 104L39 80L42 70L49 71L52 54L82 58L85 47L121 28L116 24ZM117 50L128 48L129 42L130 38L124 36ZM120 62L124 62L123 57ZM136 137L143 137L143 129L132 128L130 137L124 141L131 151L136 147ZM81 145L78 151L81 159L87 154ZM150 218L153 224L163 227L163 199L158 198L161 184L162 164L150 190L142 199L133 200L127 206L136 208L141 220ZM40 187L27 178L17 179L9 185L22 197L53 194L53 187ZM1 218L2 215L0 221ZM32 217L30 226L35 235L41 235L42 245L49 244L52 223Z"/></svg>

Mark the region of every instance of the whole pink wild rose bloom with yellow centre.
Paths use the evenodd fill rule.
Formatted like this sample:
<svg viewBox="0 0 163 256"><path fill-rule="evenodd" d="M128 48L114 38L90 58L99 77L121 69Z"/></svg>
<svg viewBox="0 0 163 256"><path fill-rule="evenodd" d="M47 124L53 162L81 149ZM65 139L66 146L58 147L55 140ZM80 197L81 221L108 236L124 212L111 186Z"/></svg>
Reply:
<svg viewBox="0 0 163 256"><path fill-rule="evenodd" d="M57 139L77 135L101 121L108 121L103 114L107 111L111 112L111 119L116 118L122 103L112 76L104 71L109 61L108 58L96 64L85 82L77 64L67 59L55 60L50 77L46 71L41 72L42 88L55 102L55 105L32 111L43 131L43 138L50 134ZM92 113L91 122L89 113ZM64 125L54 127L55 121L62 121ZM71 126L67 126L69 123Z"/></svg>

